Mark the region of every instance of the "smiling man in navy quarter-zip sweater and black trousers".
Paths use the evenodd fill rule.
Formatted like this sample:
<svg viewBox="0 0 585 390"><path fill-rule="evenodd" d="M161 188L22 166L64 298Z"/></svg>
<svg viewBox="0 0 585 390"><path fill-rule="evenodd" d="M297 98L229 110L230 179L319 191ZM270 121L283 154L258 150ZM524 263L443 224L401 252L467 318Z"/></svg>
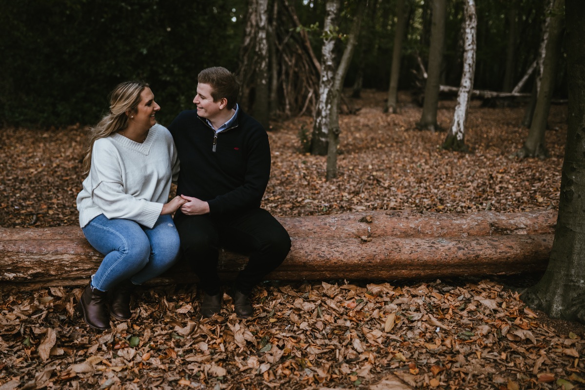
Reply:
<svg viewBox="0 0 585 390"><path fill-rule="evenodd" d="M239 317L253 314L250 292L290 251L287 231L260 202L270 176L270 145L263 127L237 104L239 85L221 67L197 77L196 110L168 127L181 161L177 194L188 202L174 217L181 253L204 291L201 314L221 310L219 247L249 254L232 291Z"/></svg>

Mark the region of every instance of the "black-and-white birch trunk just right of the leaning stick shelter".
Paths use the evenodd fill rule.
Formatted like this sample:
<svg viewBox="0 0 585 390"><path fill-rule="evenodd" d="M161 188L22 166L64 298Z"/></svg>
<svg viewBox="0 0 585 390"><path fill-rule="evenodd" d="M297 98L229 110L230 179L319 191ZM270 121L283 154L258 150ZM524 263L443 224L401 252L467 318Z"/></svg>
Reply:
<svg viewBox="0 0 585 390"><path fill-rule="evenodd" d="M327 0L325 24L323 27L323 47L321 50L321 81L319 81L319 98L315 108L313 133L311 137L311 154L326 156L331 131L331 110L333 83L335 82L335 42L337 34L333 29L338 26L340 0Z"/></svg>

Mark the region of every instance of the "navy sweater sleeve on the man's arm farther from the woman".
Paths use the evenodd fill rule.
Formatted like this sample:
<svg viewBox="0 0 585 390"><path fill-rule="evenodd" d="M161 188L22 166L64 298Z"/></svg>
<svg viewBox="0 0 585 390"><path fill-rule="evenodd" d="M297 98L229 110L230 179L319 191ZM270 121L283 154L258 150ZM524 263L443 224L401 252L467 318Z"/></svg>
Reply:
<svg viewBox="0 0 585 390"><path fill-rule="evenodd" d="M209 213L240 212L260 206L270 178L270 143L266 132L250 140L243 184L232 191L208 201Z"/></svg>

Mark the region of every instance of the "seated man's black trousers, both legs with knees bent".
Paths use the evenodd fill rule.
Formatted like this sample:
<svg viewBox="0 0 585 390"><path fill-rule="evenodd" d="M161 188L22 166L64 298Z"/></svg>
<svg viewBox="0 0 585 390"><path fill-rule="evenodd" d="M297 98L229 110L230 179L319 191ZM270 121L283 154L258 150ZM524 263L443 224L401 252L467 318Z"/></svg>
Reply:
<svg viewBox="0 0 585 390"><path fill-rule="evenodd" d="M181 254L192 265L201 288L210 295L217 294L221 285L217 269L220 247L250 256L235 281L235 288L246 295L276 270L291 249L287 231L261 208L225 217L189 216L178 211L174 222Z"/></svg>

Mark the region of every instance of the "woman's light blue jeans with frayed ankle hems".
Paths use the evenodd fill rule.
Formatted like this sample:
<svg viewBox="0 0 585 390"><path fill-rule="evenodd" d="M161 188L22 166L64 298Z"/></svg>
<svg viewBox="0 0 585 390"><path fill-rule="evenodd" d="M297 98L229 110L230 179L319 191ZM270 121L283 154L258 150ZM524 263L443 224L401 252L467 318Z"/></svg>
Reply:
<svg viewBox="0 0 585 390"><path fill-rule="evenodd" d="M168 270L179 253L179 235L170 215L161 215L149 229L101 214L82 230L91 246L105 255L91 281L92 287L101 291L126 279L143 284Z"/></svg>

